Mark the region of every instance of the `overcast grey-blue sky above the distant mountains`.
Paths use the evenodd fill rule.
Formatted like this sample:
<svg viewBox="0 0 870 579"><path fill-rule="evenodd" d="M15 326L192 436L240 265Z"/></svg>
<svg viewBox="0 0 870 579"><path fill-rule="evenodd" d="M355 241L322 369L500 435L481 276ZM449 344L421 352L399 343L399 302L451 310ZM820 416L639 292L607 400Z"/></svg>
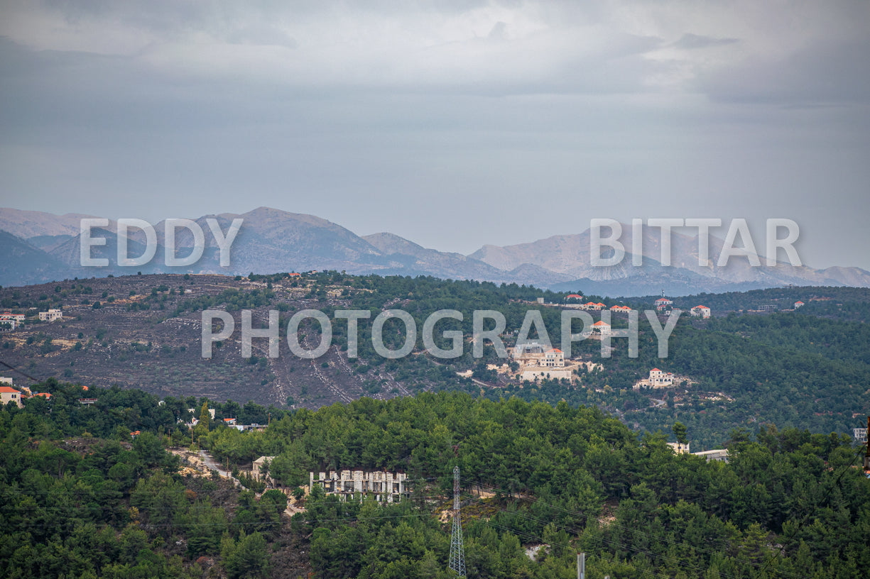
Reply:
<svg viewBox="0 0 870 579"><path fill-rule="evenodd" d="M0 206L462 253L594 217L744 217L761 250L786 217L806 264L870 270L868 31L862 0L0 0Z"/></svg>

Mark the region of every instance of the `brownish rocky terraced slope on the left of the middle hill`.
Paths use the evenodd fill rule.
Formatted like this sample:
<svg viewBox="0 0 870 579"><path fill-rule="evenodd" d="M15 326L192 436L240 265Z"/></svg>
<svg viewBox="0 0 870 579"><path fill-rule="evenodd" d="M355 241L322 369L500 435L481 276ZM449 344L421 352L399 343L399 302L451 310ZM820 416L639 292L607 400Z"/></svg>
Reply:
<svg viewBox="0 0 870 579"><path fill-rule="evenodd" d="M211 359L204 359L201 310L178 312L184 304L209 298L214 301L210 307L216 309L231 310L233 303L241 304L255 312L255 327L264 323L269 309L291 312L348 305L346 299L305 297L309 289L304 281L266 286L229 276L144 275L2 289L0 302L5 309L35 316L37 309L60 306L64 318L40 323L29 317L23 328L0 335L0 360L20 370L7 367L0 374L25 385L31 383L27 376L36 380L57 376L83 384L135 387L158 396L278 405L289 399L291 405L311 408L360 396L409 393L389 372L359 369L337 346L317 360L303 360L291 355L282 338L280 356L269 358L266 340L255 339L253 356L243 358L239 326L235 336L213 350ZM271 292L268 303L263 298L267 291ZM258 297L260 305L256 305ZM99 305L95 308L94 303ZM238 323L239 313L233 313Z"/></svg>

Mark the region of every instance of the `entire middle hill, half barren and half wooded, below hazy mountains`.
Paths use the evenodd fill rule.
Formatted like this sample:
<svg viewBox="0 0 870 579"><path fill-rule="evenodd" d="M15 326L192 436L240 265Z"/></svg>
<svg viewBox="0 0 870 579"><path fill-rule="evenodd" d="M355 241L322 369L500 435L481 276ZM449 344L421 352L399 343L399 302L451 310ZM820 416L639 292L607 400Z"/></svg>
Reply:
<svg viewBox="0 0 870 579"><path fill-rule="evenodd" d="M576 291L583 294L582 288ZM444 389L493 400L566 400L572 406L599 406L633 428L650 432L666 432L679 420L688 426L695 450L716 448L733 429L755 431L760 424L851 434L870 414L870 289L783 288L679 298L674 306L684 311L668 339L666 357L659 357L653 328L641 314L638 357L627 355L625 338L612 340L610 357L602 356L597 339L573 343L571 355L583 365L570 382L521 383L510 364L505 365L510 361L497 356L489 342L482 359L472 356L475 310L496 310L505 316L506 346L517 339L525 316L537 310L553 345L559 347L563 307L579 302L568 295L516 284L347 276L336 271L73 280L0 289L0 305L29 316L23 326L0 336L0 351L3 363L37 379L55 376L101 386L120 384L159 396L253 400L284 409L317 409L361 396L386 399ZM607 307L626 303L645 310L652 309L655 297L625 301L583 296L582 301ZM537 303L538 298L545 304ZM791 309L799 299L805 305ZM689 316L686 309L697 302L712 308L713 318ZM757 311L761 305L780 311ZM63 309L63 321L40 323L37 310L48 308ZM204 309L230 312L237 327L230 339L215 344L208 359L200 353ZM278 357L268 356L262 339L253 341L251 356L242 356L238 328L244 309L261 324L268 310L278 310ZM304 309L318 309L332 320L332 347L313 360L291 354L284 339L289 319ZM358 321L356 358L348 356L348 326L335 316L340 309L371 314ZM412 316L418 332L411 355L387 359L375 351L372 323L386 309ZM436 345L449 348L441 332L460 330L465 336L461 356L437 358L425 348L421 329L439 309L456 309L463 315L461 322L438 323L435 332ZM590 314L596 321L602 316ZM660 314L659 323L665 320ZM626 329L626 315L612 314L612 324L614 329ZM385 329L386 347L400 348L406 337L402 324L389 321ZM575 325L573 331L579 328ZM318 325L305 325L302 332L313 347ZM673 372L677 383L666 389L633 389L653 368Z"/></svg>

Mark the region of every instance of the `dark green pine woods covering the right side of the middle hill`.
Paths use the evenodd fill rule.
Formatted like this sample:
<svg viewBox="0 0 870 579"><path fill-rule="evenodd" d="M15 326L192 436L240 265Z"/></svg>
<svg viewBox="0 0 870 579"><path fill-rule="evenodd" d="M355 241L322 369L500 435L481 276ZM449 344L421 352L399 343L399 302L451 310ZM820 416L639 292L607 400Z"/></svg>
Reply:
<svg viewBox="0 0 870 579"><path fill-rule="evenodd" d="M280 274L262 277L276 282L280 278ZM498 310L505 315L508 345L517 336L526 312L538 309L552 345L560 345L562 310L536 305L535 300L543 297L546 303L565 303L566 293L431 277L351 277L324 272L316 279L317 283L311 284L312 299L323 299L328 287L345 284L348 305L371 309L372 317L388 307L401 308L414 317L418 328L432 312L456 309L462 312L463 321L447 321L439 331L442 327L458 329L464 336L472 336L474 310ZM806 305L791 309L801 297ZM626 304L641 311L653 309L654 299L584 297L584 301ZM597 405L650 432L666 430L679 420L692 430L693 449L697 450L719 448L733 429L755 430L766 423L844 434L864 425L865 416L870 415L870 289L781 288L675 299L674 307L684 311L668 340L665 358L659 357L653 328L641 314L637 357L628 356L624 338L613 339L615 349L608 358L602 356L599 341L587 339L572 345L572 356L599 364L597 369L584 371L575 383L505 381L487 369L487 364L506 362L496 356L489 343L482 359L474 358L467 347L463 356L453 360L426 355L386 360L371 347L371 320L358 323L356 369L365 374L372 366L383 366L411 391L462 389L493 400L519 396L551 404L565 400L572 406ZM713 308L712 318L688 315L687 309L704 302ZM752 311L764 304L785 311ZM329 316L339 309L334 304L320 305ZM614 314L612 325L626 329L626 316ZM394 327L393 334L385 334L385 341L398 348L405 334L398 323ZM572 328L579 331L576 325ZM317 327L310 331L318 336ZM530 336L539 337L534 330ZM340 323L333 324L333 341L346 349L346 327ZM440 347L449 347L438 341L438 334L435 341ZM419 335L417 342L417 351L422 351ZM632 389L655 367L689 380L679 389ZM458 380L454 370L468 369L474 371L476 381ZM481 389L481 383L495 388ZM378 383L371 383L371 391L379 391Z"/></svg>

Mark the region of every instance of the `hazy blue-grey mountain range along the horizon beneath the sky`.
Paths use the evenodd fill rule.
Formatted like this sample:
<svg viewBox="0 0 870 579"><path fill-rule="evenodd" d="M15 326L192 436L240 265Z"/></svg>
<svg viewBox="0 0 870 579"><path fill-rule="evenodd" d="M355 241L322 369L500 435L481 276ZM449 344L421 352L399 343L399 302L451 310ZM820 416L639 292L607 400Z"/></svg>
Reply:
<svg viewBox="0 0 870 579"><path fill-rule="evenodd" d="M246 275L277 271L345 270L348 273L436 276L476 279L494 283L521 283L553 289L582 289L599 295L638 295L664 289L677 296L699 291L730 291L780 285L851 285L870 287L870 272L860 268L830 267L813 270L806 266L777 263L753 267L745 257L733 257L726 267L717 265L724 242L709 236L706 263L699 263L698 236L674 230L671 236L671 266L661 265L661 237L657 228L644 227L641 241L643 265L632 264L633 231L623 225L620 242L626 255L612 266L593 266L590 231L550 236L529 243L484 245L469 256L424 248L389 232L358 236L321 217L259 207L244 214L200 216L194 221L204 232L203 256L187 267L164 264L164 222L153 225L157 252L150 263L135 268L117 265L117 223L110 221L93 236L104 236L106 245L91 248L94 257L106 257L110 266L80 265L78 214L56 216L41 211L0 210L0 230L6 228L17 241L9 241L7 257L0 263L0 284L49 282L66 277L144 273L217 273ZM231 245L231 266L219 263L218 246L207 224L215 219L225 233L234 219L244 220ZM20 223L17 221L20 220ZM17 233L16 233L17 232ZM142 230L129 230L129 255L144 252ZM28 241L32 239L32 242ZM24 243L26 248L21 245ZM5 243L4 243L5 244ZM177 229L177 255L193 250L194 238L185 228ZM16 253L17 252L17 253ZM26 254L26 259L20 257ZM606 255L606 254L605 254Z"/></svg>

